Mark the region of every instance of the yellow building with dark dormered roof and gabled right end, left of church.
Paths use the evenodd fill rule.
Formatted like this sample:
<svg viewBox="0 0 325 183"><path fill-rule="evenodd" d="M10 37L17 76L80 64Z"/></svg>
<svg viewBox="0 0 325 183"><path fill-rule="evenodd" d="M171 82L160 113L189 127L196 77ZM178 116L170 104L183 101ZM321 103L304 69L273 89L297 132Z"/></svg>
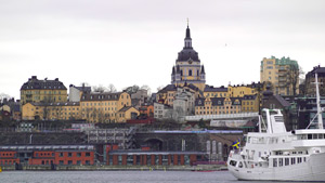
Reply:
<svg viewBox="0 0 325 183"><path fill-rule="evenodd" d="M89 122L117 122L117 114L125 106L131 106L127 92L84 93L80 106L82 118Z"/></svg>

